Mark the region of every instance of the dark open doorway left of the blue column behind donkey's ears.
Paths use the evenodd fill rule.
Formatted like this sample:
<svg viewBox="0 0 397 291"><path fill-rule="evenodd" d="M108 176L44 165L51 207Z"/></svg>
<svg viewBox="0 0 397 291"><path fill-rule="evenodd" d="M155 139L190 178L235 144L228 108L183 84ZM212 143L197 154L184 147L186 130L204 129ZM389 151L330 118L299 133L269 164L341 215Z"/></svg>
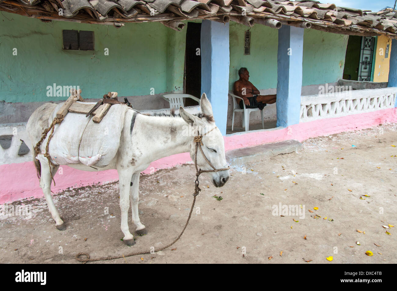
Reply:
<svg viewBox="0 0 397 291"><path fill-rule="evenodd" d="M201 96L201 23L188 22L186 31L185 50L185 72L184 85L185 94L197 98ZM185 106L198 105L193 99L186 98Z"/></svg>

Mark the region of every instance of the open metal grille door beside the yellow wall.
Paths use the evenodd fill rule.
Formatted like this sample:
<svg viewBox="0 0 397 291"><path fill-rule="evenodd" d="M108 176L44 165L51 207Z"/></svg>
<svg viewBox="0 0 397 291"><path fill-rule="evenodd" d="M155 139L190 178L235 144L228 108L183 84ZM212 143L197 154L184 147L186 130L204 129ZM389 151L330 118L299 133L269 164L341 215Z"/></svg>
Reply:
<svg viewBox="0 0 397 291"><path fill-rule="evenodd" d="M358 81L371 81L374 46L374 37L361 38L360 63L358 65Z"/></svg>

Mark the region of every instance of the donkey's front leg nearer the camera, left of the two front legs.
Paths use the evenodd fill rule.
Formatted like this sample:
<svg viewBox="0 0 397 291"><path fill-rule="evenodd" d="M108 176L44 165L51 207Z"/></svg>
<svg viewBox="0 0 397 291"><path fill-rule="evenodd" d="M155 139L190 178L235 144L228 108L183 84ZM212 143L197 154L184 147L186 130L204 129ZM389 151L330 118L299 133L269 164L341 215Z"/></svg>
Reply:
<svg viewBox="0 0 397 291"><path fill-rule="evenodd" d="M123 241L126 245L135 245L134 236L129 232L128 209L129 209L129 188L132 170L119 170L120 187L120 210L121 210L121 231L124 233Z"/></svg>

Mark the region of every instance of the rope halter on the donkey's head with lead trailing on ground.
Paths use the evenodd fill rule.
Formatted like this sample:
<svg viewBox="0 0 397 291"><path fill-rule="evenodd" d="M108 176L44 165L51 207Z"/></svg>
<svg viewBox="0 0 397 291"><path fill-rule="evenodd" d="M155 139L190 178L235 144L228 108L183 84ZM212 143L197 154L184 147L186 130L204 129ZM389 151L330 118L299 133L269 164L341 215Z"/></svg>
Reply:
<svg viewBox="0 0 397 291"><path fill-rule="evenodd" d="M225 170L229 170L230 167L228 166L227 168L223 168L223 169L215 169L214 166L212 166L211 162L207 159L207 157L205 156L204 152L202 151L201 146L203 145L202 143L202 137L206 134L208 134L209 132L211 132L212 130L214 130L216 127L214 127L213 129L211 129L210 131L207 131L206 133L204 133L203 135L196 135L193 139L193 141L195 142L196 148L195 148L195 167L196 167L196 181L195 181L195 193L193 194L193 203L192 203L192 207L190 208L190 212L189 212L189 217L187 218L186 224L183 227L181 233L177 236L177 238L170 243L169 245L166 245L165 247L159 248L159 249L155 249L154 252L159 252L162 251L164 249L167 249L168 247L171 247L174 243L176 243L178 241L178 239L180 239L180 237L182 236L183 232L185 231L187 225L189 224L189 220L190 217L192 215L193 212L193 208L195 206L195 202L196 202L196 196L200 193L201 189L200 187L198 187L199 185L199 181L198 181L198 177L200 176L201 173L204 172L219 172L219 171L225 171ZM47 146L48 147L48 146ZM198 148L200 148L200 152L202 154L202 156L204 157L204 160L206 160L206 162L208 163L208 165L210 165L210 167L213 170L201 170L198 169L197 167L197 150ZM136 256L138 254L150 254L150 251L145 251L145 252L132 252L131 254L127 254L127 255L120 255L120 256L107 256L107 257L102 257L102 258L90 258L90 255L85 253L85 252L80 252L79 254L76 255L76 260L78 260L79 262L82 262L83 264L87 263L87 262L95 262L95 261L103 261L103 260L113 260L113 259L119 259L119 258L125 258L128 256ZM80 256L86 256L86 258L80 258Z"/></svg>

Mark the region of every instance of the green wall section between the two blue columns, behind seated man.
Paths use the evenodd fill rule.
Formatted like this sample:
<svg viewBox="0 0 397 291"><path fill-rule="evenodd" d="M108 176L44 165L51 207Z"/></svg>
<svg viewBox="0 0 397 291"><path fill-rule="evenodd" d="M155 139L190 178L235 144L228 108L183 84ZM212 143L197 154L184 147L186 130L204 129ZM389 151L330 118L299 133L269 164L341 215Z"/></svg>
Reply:
<svg viewBox="0 0 397 291"><path fill-rule="evenodd" d="M229 26L229 89L239 78L237 71L247 67L250 82L258 89L277 87L278 30L256 24L251 31L251 54L244 55L244 31L250 28L233 21Z"/></svg>

